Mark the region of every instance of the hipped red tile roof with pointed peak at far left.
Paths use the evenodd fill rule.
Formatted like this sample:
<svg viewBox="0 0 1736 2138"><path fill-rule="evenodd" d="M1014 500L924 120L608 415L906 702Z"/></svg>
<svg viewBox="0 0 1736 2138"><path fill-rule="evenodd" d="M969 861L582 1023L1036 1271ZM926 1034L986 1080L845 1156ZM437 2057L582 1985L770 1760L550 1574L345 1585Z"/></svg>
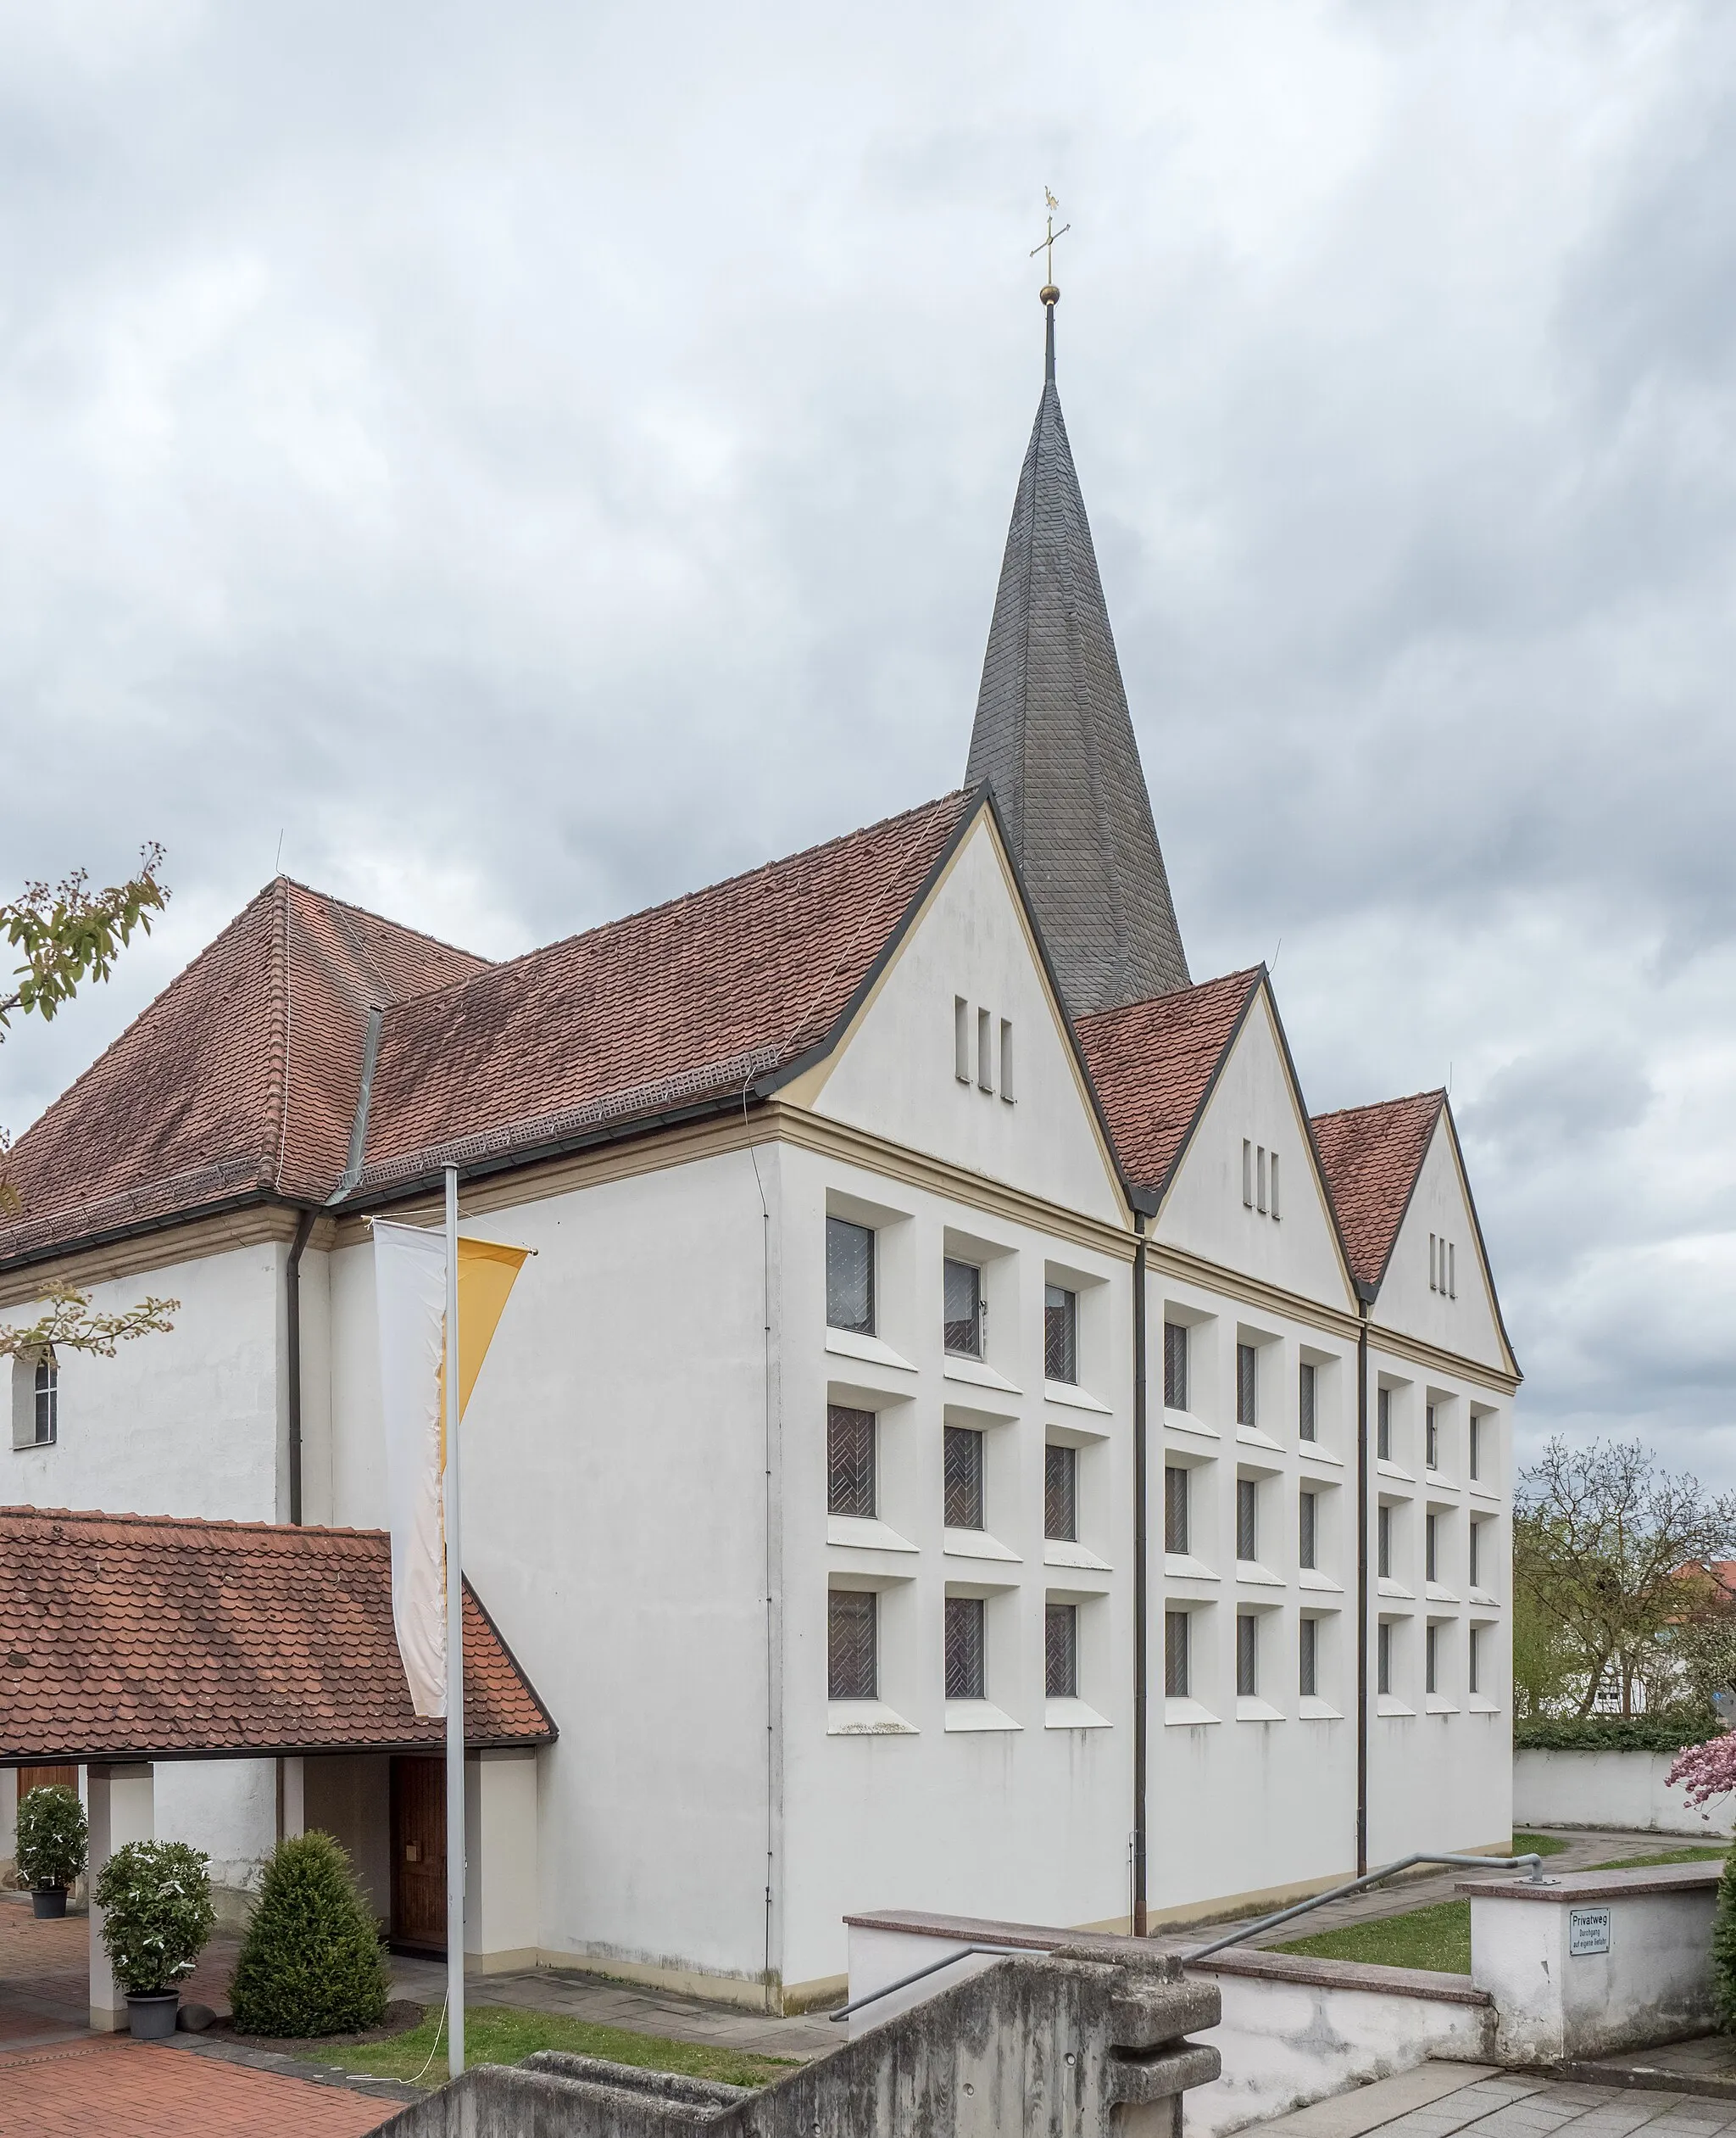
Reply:
<svg viewBox="0 0 1736 2138"><path fill-rule="evenodd" d="M19 1137L0 1259L259 1191L323 1202L370 1007L485 971L278 877Z"/></svg>

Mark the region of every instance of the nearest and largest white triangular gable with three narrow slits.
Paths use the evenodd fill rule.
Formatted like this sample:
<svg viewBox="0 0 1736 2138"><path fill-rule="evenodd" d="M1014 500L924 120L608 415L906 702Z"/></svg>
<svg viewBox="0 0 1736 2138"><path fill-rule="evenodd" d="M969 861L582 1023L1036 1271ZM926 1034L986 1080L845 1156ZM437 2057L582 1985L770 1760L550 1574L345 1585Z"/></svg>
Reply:
<svg viewBox="0 0 1736 2138"><path fill-rule="evenodd" d="M960 1003L968 1084L958 1078ZM979 1082L983 1013L990 1090ZM1114 1150L988 795L889 943L849 1026L785 1097L1127 1225Z"/></svg>

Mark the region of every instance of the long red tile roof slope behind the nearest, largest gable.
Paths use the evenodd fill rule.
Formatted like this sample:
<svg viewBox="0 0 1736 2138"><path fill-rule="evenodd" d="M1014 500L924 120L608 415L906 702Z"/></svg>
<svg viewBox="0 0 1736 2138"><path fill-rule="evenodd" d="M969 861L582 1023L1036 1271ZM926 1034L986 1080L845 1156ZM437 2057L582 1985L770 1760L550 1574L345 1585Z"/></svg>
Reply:
<svg viewBox="0 0 1736 2138"><path fill-rule="evenodd" d="M740 1097L834 1028L977 797L943 795L387 1013L361 1191Z"/></svg>

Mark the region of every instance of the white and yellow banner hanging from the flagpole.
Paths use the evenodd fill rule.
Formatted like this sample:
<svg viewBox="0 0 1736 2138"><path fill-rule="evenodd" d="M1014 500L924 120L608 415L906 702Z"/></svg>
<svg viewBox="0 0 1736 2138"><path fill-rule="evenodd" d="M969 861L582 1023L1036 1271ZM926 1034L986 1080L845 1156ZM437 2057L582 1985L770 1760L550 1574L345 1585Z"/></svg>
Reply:
<svg viewBox="0 0 1736 2138"><path fill-rule="evenodd" d="M530 1249L458 1242L458 1415ZM417 1715L447 1713L447 1236L374 1225L391 1616Z"/></svg>

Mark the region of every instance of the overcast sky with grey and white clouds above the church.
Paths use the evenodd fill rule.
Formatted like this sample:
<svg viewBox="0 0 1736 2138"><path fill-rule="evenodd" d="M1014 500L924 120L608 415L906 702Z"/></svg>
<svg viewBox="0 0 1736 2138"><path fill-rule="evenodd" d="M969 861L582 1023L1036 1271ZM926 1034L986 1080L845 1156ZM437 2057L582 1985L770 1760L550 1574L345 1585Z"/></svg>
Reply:
<svg viewBox="0 0 1736 2138"><path fill-rule="evenodd" d="M0 9L4 879L487 954L958 785L1060 391L1195 977L1736 1484L1736 11Z"/></svg>

